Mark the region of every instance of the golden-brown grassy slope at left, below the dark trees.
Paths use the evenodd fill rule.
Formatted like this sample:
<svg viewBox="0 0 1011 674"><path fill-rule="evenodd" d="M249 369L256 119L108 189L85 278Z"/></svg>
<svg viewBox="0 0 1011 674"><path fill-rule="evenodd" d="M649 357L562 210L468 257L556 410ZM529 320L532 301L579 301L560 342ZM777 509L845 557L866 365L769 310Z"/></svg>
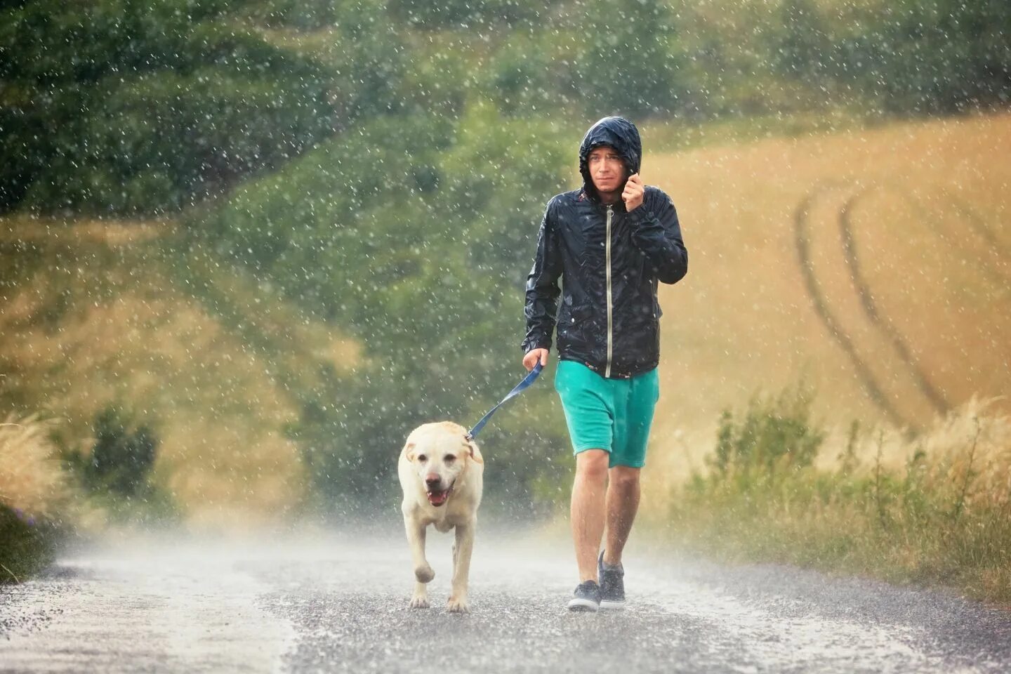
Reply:
<svg viewBox="0 0 1011 674"><path fill-rule="evenodd" d="M122 408L154 423L156 478L190 521L280 514L304 493L286 385L310 382L317 362L343 370L354 346L194 259L189 278L208 282L197 301L159 252L171 230L0 221L0 405L56 416L63 443L86 450L95 415Z"/></svg>

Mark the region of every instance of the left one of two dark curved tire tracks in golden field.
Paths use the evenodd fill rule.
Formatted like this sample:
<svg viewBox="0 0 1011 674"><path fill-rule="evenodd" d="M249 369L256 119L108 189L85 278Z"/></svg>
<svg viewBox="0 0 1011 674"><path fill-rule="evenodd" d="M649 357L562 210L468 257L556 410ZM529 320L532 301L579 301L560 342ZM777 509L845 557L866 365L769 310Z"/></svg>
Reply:
<svg viewBox="0 0 1011 674"><path fill-rule="evenodd" d="M866 390L867 395L870 396L870 399L874 400L875 404L877 404L882 411L885 412L893 423L900 426L908 425L902 414L899 413L899 410L897 410L885 396L885 392L878 384L878 379L875 377L874 372L857 353L856 345L853 344L852 338L850 338L846 330L843 329L839 319L836 318L835 314L832 313L832 310L829 309L828 302L818 284L818 277L815 274L814 261L811 259L811 240L808 236L808 217L811 213L811 207L815 200L832 187L839 187L839 185L825 184L820 187L815 186L810 192L808 192L807 196L804 197L794 213L794 240L797 244L797 254L801 263L801 276L804 277L804 285L807 288L808 296L811 298L811 302L814 304L815 312L828 328L828 332L832 335L832 339L835 340L836 344L838 344L842 351L849 357L850 362L853 364L853 368L856 370L856 375L863 384L863 388Z"/></svg>

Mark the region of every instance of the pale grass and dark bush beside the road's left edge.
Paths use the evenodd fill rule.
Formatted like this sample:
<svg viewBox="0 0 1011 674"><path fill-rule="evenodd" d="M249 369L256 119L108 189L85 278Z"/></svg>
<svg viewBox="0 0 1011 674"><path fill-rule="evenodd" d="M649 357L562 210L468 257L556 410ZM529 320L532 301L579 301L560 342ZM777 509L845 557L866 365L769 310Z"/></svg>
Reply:
<svg viewBox="0 0 1011 674"><path fill-rule="evenodd" d="M149 424L109 406L74 439L52 415L0 421L0 583L20 583L58 547L117 527L178 520L169 490L152 475L159 440Z"/></svg>

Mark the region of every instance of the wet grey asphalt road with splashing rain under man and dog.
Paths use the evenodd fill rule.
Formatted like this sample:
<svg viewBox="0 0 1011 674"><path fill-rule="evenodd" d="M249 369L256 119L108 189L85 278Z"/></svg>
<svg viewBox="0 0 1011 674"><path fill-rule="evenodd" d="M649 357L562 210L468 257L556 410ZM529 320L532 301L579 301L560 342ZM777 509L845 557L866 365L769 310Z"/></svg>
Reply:
<svg viewBox="0 0 1011 674"><path fill-rule="evenodd" d="M409 609L399 532L310 542L133 539L0 587L0 672L1008 672L1011 613L796 569L662 550L626 559L629 607L569 613L563 533L479 531L468 615Z"/></svg>

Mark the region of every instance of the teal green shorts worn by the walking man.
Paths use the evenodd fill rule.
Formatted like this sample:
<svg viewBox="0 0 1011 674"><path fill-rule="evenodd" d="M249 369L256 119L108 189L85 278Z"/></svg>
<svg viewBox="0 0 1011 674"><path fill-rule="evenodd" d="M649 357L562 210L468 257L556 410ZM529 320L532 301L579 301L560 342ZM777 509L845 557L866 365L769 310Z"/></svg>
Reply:
<svg viewBox="0 0 1011 674"><path fill-rule="evenodd" d="M610 466L641 468L660 396L656 369L631 379L606 379L582 363L559 361L555 390L561 398L572 453L605 450Z"/></svg>

